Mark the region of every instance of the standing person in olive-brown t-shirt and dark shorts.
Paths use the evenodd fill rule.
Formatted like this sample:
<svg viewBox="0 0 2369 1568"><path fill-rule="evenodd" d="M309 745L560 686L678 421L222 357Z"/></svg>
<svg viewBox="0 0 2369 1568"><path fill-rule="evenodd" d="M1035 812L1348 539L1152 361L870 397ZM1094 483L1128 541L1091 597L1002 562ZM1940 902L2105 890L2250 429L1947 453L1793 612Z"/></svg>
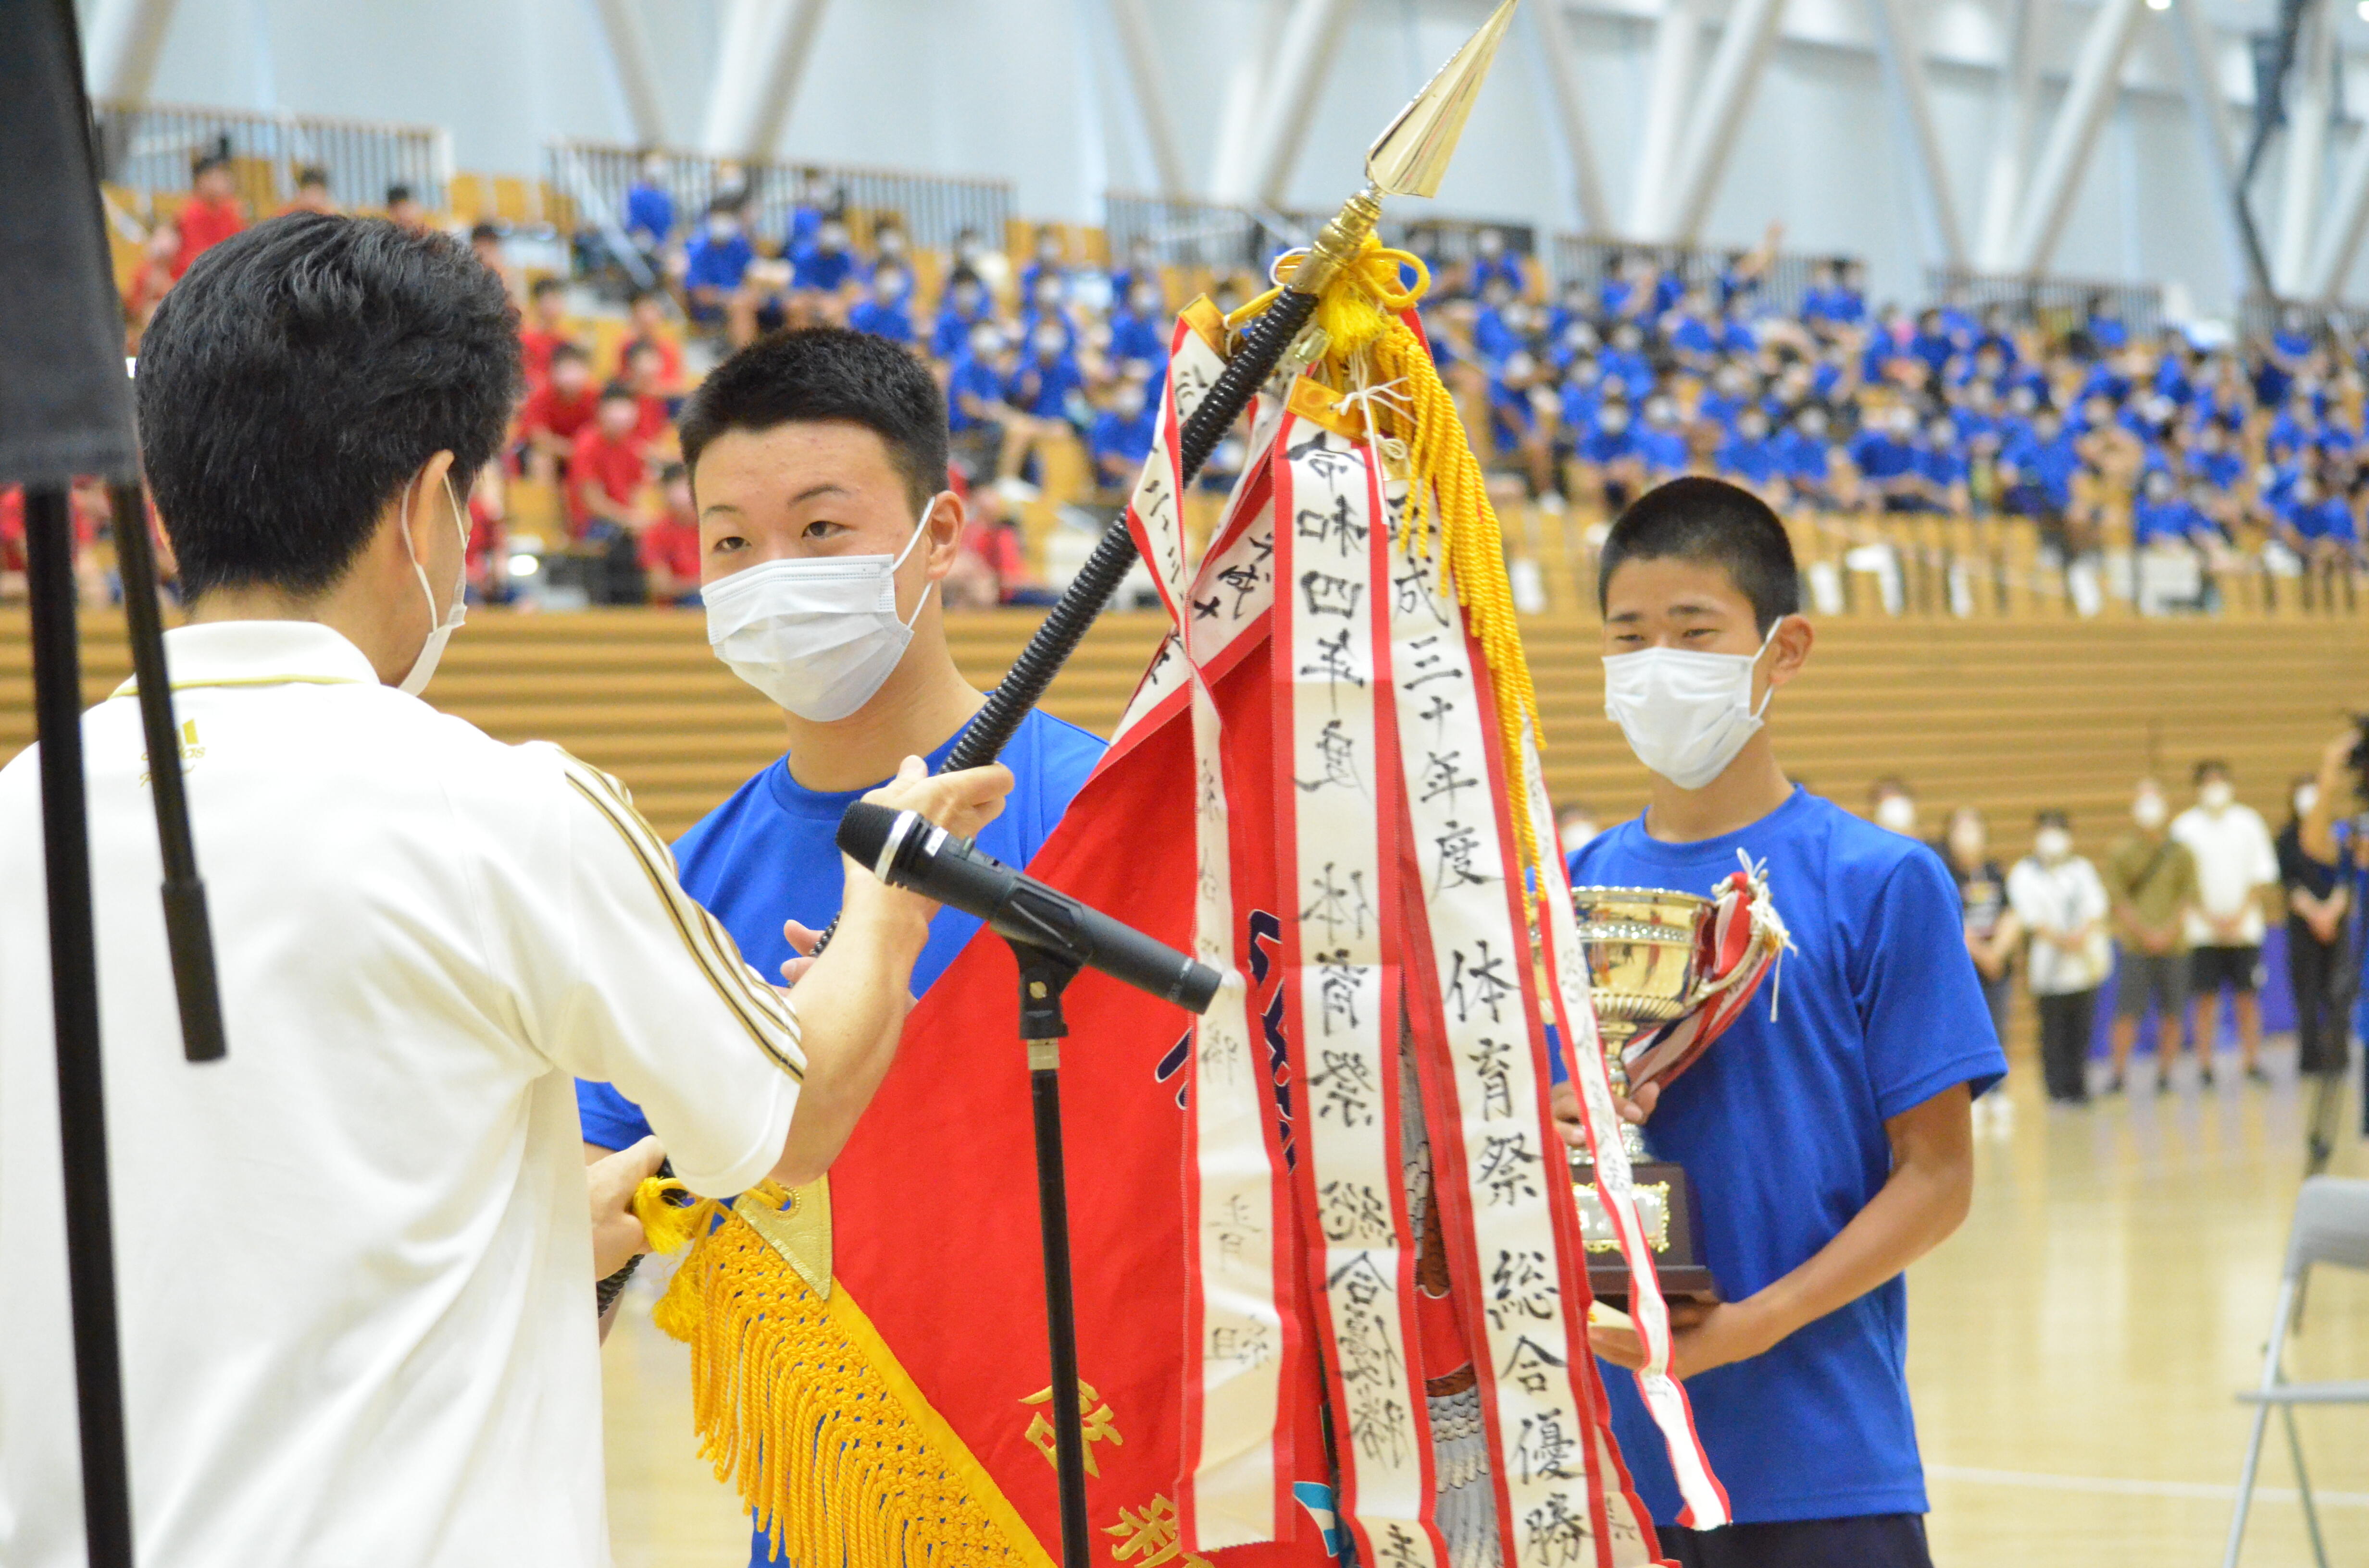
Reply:
<svg viewBox="0 0 2369 1568"><path fill-rule="evenodd" d="M2099 867L2113 900L2120 945L2113 995L2113 1078L2123 1090L2139 1018L2156 1007L2156 1092L2172 1087L2179 1023L2189 1011L2189 910L2196 907L2196 855L2170 834L2172 810L2153 779L2139 779L2130 803L2132 831L2116 838ZM2213 1082L2210 1052L2198 1042L2198 1080Z"/></svg>

